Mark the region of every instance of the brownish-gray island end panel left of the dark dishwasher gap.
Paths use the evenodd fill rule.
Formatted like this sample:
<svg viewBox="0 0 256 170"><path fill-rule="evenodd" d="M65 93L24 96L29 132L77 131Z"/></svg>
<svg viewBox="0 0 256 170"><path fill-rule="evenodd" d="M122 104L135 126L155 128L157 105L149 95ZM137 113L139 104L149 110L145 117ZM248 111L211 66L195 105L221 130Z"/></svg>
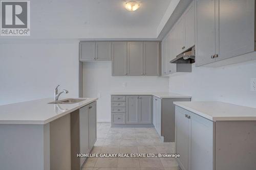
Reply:
<svg viewBox="0 0 256 170"><path fill-rule="evenodd" d="M54 170L71 169L70 114L50 123L50 164Z"/></svg>

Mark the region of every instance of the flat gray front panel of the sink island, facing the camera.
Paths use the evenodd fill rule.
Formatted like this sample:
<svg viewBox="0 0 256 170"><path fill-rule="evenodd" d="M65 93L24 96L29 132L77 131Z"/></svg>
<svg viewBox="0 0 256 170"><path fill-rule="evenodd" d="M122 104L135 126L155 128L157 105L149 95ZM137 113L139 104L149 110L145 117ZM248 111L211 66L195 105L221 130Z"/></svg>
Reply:
<svg viewBox="0 0 256 170"><path fill-rule="evenodd" d="M0 125L0 168L44 170L44 125Z"/></svg>

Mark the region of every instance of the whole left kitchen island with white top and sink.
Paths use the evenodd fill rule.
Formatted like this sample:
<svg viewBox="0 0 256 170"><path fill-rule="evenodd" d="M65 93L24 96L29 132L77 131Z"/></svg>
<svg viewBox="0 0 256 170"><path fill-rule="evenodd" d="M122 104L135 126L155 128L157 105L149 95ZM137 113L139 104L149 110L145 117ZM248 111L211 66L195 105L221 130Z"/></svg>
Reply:
<svg viewBox="0 0 256 170"><path fill-rule="evenodd" d="M96 141L96 98L40 99L0 106L1 169L80 169Z"/></svg>

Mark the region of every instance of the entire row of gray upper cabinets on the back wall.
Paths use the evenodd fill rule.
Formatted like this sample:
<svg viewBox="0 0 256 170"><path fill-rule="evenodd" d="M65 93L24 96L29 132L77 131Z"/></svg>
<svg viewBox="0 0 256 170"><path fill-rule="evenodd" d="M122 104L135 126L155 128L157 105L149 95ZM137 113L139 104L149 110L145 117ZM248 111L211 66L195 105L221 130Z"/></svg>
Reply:
<svg viewBox="0 0 256 170"><path fill-rule="evenodd" d="M112 76L159 76L158 41L81 41L80 61L112 61Z"/></svg>

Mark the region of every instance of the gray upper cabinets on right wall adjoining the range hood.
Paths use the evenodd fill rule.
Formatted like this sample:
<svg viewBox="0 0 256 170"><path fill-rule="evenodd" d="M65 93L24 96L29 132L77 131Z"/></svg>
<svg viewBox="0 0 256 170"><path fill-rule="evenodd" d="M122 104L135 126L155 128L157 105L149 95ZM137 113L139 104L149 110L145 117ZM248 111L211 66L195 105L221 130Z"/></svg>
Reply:
<svg viewBox="0 0 256 170"><path fill-rule="evenodd" d="M195 45L195 4L189 5L162 40L162 76L190 72L191 64L173 64L170 60Z"/></svg>

